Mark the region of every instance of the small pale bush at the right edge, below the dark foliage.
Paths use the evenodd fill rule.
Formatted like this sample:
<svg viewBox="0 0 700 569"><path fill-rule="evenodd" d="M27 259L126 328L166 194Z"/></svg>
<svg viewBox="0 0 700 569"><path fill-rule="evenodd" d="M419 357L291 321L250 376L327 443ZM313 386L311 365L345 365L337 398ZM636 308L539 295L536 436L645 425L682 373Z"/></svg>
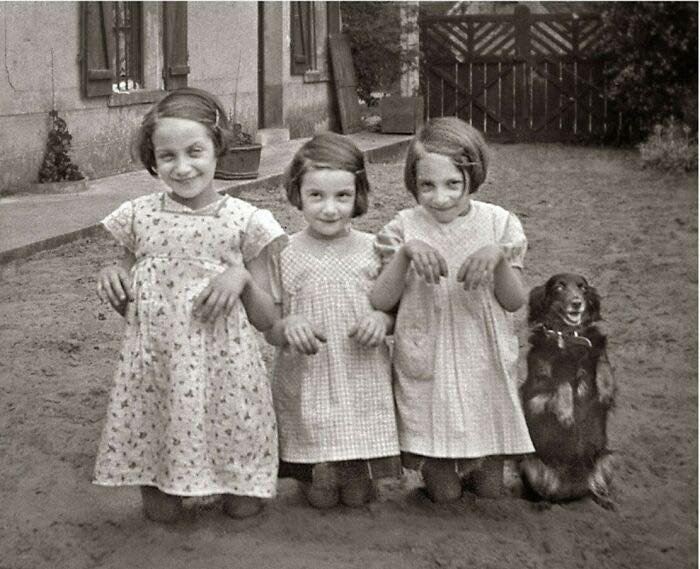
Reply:
<svg viewBox="0 0 700 569"><path fill-rule="evenodd" d="M691 129L674 119L657 124L653 133L639 145L642 167L691 172L698 167L698 141Z"/></svg>

